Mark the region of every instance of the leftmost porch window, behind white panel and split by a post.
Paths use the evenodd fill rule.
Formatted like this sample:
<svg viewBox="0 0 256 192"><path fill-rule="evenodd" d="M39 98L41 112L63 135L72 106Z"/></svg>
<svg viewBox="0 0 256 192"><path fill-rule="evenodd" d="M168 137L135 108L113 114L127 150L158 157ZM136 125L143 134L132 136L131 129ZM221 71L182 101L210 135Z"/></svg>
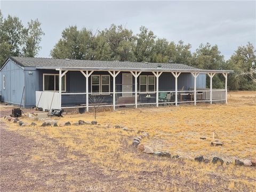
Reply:
<svg viewBox="0 0 256 192"><path fill-rule="evenodd" d="M59 74L43 74L43 90L59 91ZM66 75L61 78L61 91L66 92Z"/></svg>

